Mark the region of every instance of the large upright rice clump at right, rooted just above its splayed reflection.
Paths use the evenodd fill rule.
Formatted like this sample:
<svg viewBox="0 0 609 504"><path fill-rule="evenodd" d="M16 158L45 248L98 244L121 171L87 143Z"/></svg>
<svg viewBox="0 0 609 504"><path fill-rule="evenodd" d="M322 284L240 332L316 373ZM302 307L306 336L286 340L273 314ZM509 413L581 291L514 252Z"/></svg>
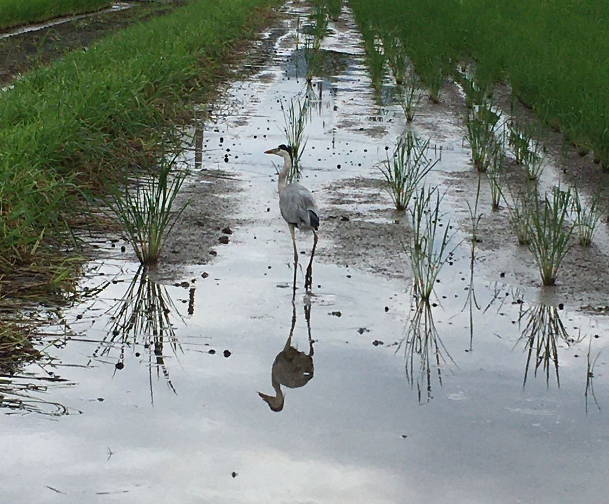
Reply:
<svg viewBox="0 0 609 504"><path fill-rule="evenodd" d="M543 200L533 198L530 212L530 252L537 262L543 285L554 285L560 263L569 250L575 223L568 223L571 190L554 187Z"/></svg>

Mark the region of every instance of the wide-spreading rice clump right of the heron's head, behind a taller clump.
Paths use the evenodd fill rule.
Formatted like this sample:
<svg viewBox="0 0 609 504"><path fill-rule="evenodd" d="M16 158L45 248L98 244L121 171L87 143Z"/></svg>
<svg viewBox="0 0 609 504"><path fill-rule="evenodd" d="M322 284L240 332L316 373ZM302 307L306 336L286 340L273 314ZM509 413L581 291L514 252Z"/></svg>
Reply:
<svg viewBox="0 0 609 504"><path fill-rule="evenodd" d="M386 189L397 211L404 211L410 198L415 194L418 184L438 163L426 156L429 140L424 142L411 131L402 136L393 155L382 162L379 169L385 177Z"/></svg>

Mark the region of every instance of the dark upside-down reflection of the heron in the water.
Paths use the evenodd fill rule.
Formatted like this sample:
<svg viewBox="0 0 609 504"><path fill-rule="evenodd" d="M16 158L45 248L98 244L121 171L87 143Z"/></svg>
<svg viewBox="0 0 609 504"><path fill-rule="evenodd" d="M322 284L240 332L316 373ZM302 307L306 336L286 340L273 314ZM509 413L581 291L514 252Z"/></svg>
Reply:
<svg viewBox="0 0 609 504"><path fill-rule="evenodd" d="M281 385L288 388L298 388L306 385L313 377L313 340L311 338L311 305L305 305L306 325L309 333L309 353L300 352L292 346L292 335L296 325L296 306L292 303L292 327L283 350L275 357L271 370L270 381L275 389L275 395L269 396L258 392L258 395L273 411L283 410L284 396Z"/></svg>

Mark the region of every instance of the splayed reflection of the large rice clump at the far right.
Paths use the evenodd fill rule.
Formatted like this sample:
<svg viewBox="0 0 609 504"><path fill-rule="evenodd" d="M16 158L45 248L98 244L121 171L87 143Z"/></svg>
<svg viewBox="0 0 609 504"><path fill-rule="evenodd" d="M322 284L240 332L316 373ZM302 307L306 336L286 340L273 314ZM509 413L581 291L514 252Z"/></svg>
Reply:
<svg viewBox="0 0 609 504"><path fill-rule="evenodd" d="M527 376L531 364L531 358L534 357L535 371L540 366L546 376L546 384L550 380L550 368L554 366L556 374L556 383L560 387L560 378L558 376L558 349L557 338L564 341L567 345L577 343L574 338L569 337L569 334L560 320L558 308L555 306L547 306L540 304L526 310L521 319L527 317L527 324L521 335L521 340L525 341L527 350L527 362L524 368L523 387L527 383Z"/></svg>

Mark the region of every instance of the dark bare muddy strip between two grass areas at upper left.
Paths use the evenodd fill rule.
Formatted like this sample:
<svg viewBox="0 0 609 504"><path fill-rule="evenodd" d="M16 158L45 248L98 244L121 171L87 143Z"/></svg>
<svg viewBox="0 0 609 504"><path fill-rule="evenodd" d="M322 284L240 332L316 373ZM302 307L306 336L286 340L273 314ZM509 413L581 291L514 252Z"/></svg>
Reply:
<svg viewBox="0 0 609 504"><path fill-rule="evenodd" d="M67 52L83 49L110 33L163 15L173 7L137 2L124 10L99 12L74 21L20 33L0 40L0 85L35 66L46 65Z"/></svg>

